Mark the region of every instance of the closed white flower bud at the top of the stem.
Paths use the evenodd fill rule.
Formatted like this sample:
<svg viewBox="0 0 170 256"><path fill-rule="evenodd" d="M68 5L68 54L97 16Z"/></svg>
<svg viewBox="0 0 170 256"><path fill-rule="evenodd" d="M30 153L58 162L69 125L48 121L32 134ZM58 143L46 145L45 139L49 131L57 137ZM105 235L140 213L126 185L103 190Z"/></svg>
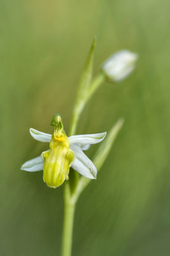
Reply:
<svg viewBox="0 0 170 256"><path fill-rule="evenodd" d="M131 74L137 59L138 54L136 53L127 50L119 51L103 63L101 70L106 79L118 82Z"/></svg>

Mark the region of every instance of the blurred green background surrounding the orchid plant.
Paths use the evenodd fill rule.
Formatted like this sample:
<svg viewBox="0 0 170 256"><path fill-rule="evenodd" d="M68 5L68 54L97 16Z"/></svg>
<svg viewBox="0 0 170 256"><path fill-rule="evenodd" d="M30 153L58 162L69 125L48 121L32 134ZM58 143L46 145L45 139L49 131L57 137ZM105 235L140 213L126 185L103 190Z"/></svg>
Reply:
<svg viewBox="0 0 170 256"><path fill-rule="evenodd" d="M68 131L94 35L94 74L121 49L139 61L122 83L103 84L81 115L78 134L109 131L120 116L125 124L78 202L73 255L169 255L169 8L168 0L1 0L1 255L59 255L62 188L20 166L48 148L29 127L52 132L58 112Z"/></svg>

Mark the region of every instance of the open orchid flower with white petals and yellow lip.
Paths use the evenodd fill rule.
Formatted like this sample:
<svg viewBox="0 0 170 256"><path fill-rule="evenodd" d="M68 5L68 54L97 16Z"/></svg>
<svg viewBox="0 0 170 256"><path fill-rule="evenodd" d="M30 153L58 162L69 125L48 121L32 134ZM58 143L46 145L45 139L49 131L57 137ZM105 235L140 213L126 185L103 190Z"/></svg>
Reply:
<svg viewBox="0 0 170 256"><path fill-rule="evenodd" d="M46 134L31 128L31 136L38 141L50 143L50 149L41 156L25 162L21 170L38 172L43 170L43 180L50 188L59 187L69 179L69 168L89 178L96 179L97 169L83 150L104 140L106 132L67 137L59 114L55 113L51 125L53 134Z"/></svg>

